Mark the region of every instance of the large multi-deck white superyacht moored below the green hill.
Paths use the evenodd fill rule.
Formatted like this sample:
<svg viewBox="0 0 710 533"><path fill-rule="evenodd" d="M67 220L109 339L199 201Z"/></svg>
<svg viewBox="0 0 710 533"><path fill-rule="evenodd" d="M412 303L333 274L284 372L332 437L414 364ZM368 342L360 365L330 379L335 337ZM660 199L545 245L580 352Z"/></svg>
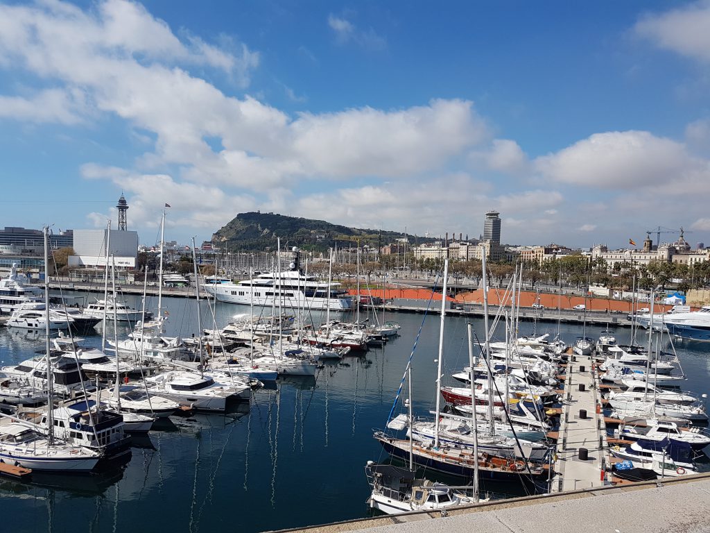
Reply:
<svg viewBox="0 0 710 533"><path fill-rule="evenodd" d="M204 290L217 301L255 306L280 305L331 311L349 311L353 297L339 289L340 284L318 281L315 276L305 276L298 267L298 252L290 271L259 274L256 278L239 283L204 284Z"/></svg>

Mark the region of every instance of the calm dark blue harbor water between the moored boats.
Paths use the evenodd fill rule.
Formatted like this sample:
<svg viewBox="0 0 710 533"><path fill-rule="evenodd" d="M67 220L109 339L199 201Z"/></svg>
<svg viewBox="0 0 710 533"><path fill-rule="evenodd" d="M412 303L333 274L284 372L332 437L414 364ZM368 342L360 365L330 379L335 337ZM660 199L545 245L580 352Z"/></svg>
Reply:
<svg viewBox="0 0 710 533"><path fill-rule="evenodd" d="M138 298L126 301L140 307ZM168 297L163 303L168 334L197 332L194 301ZM151 305L155 308L155 301ZM207 306L202 307L202 325L211 327ZM248 312L244 306L218 304L217 325ZM319 321L320 314L313 318ZM413 360L415 411L426 414L435 404L439 317L433 312L425 321L422 315L387 318L402 329L384 348L327 365L315 379L287 379L275 389L258 390L251 402L226 415L174 417L172 424L137 440L126 465L94 475L33 475L32 483L0 479L2 529L192 533L227 527L252 533L368 516L364 466L386 459L372 432L386 424L420 326ZM466 322L447 318L445 381L467 364ZM483 321L472 323L482 339ZM553 323L523 323L519 333L533 328L557 333ZM602 329L586 328L586 335L596 337ZM559 331L567 342L581 333L565 325ZM620 342L630 335L628 328L614 332ZM98 333L86 340L101 343ZM41 335L0 328L4 365L43 346ZM710 346L682 343L677 350L689 376L684 388L707 392Z"/></svg>

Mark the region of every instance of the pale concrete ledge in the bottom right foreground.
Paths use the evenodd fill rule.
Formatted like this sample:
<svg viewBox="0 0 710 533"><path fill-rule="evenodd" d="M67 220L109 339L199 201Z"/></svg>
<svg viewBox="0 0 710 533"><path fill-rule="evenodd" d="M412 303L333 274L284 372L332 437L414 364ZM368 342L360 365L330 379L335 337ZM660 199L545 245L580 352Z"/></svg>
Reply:
<svg viewBox="0 0 710 533"><path fill-rule="evenodd" d="M710 529L710 474L337 522L304 533L649 533Z"/></svg>

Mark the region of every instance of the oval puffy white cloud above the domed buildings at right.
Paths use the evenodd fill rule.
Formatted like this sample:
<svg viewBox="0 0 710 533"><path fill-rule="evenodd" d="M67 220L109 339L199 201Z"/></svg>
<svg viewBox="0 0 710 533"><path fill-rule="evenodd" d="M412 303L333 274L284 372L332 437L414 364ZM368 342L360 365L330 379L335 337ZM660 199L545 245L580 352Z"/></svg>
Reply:
<svg viewBox="0 0 710 533"><path fill-rule="evenodd" d="M545 178L589 188L661 185L697 170L684 145L648 131L609 131L535 160Z"/></svg>

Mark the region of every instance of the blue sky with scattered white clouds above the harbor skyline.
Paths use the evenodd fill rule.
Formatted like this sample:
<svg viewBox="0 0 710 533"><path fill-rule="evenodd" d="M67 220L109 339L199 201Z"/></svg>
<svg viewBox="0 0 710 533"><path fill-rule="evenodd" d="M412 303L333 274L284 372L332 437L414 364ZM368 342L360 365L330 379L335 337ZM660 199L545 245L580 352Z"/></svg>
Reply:
<svg viewBox="0 0 710 533"><path fill-rule="evenodd" d="M710 243L710 1L0 1L0 226ZM115 226L114 226L115 227ZM661 239L676 238L662 234Z"/></svg>

